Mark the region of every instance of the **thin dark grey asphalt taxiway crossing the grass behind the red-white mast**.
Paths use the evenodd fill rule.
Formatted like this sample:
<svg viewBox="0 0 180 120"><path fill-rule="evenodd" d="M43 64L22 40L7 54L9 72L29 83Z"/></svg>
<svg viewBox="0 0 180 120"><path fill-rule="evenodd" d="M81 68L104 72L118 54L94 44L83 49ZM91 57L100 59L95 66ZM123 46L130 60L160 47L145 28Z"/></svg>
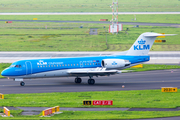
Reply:
<svg viewBox="0 0 180 120"><path fill-rule="evenodd" d="M0 21L16 21L16 22L57 22L57 23L100 23L100 24L111 24L109 21L60 21L60 20L0 20ZM180 24L173 23L142 23L142 22L121 22L120 24L125 25L144 25L144 26L170 26L180 27Z"/></svg>

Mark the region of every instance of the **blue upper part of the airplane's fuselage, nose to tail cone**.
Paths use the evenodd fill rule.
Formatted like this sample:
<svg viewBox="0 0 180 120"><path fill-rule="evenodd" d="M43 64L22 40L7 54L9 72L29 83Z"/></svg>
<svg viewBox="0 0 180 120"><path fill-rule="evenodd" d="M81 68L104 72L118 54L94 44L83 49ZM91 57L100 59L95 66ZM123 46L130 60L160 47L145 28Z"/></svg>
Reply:
<svg viewBox="0 0 180 120"><path fill-rule="evenodd" d="M124 59L129 60L131 64L146 62L150 60L149 56L96 56L96 57L77 57L77 58L51 58L51 59L33 59L20 60L12 63L1 74L3 76L24 76L56 70L86 69L102 67L101 62L104 59Z"/></svg>

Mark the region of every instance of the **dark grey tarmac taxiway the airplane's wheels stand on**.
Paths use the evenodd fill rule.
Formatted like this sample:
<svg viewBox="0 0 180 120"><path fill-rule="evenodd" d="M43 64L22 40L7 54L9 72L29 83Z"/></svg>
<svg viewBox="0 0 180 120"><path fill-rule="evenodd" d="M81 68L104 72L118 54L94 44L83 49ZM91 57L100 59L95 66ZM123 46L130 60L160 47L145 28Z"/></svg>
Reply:
<svg viewBox="0 0 180 120"><path fill-rule="evenodd" d="M146 72L122 73L110 77L94 77L94 85L87 84L88 77L82 78L81 84L74 83L74 78L39 78L25 80L26 85L12 79L0 79L0 91L12 93L49 93L82 91L119 91L161 89L161 87L180 87L180 69ZM122 88L122 85L125 88Z"/></svg>

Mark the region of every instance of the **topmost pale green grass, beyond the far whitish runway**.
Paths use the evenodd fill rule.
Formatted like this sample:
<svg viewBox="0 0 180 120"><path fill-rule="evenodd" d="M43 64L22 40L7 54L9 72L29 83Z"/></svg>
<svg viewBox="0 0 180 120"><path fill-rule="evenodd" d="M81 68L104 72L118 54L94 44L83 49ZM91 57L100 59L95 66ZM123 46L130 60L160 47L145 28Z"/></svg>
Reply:
<svg viewBox="0 0 180 120"><path fill-rule="evenodd" d="M121 0L119 11L180 11L178 0ZM1 12L110 12L112 0L1 0Z"/></svg>

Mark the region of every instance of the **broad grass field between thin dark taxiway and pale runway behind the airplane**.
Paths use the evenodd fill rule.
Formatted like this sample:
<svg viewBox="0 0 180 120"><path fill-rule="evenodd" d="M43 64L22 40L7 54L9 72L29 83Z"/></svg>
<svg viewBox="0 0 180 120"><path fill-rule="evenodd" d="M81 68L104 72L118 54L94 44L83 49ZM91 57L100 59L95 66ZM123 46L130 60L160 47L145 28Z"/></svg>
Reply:
<svg viewBox="0 0 180 120"><path fill-rule="evenodd" d="M133 25L124 25L124 31L112 35L107 33L109 25L103 24L38 22L5 24L1 21L0 25L0 51L124 51L128 50L144 32L168 34L180 32L180 28L152 26L136 28ZM79 28L81 25L83 28ZM98 35L89 35L90 28L98 28ZM129 30L126 33L127 28ZM180 35L166 37L166 43L155 43L151 51L178 51L179 37Z"/></svg>

